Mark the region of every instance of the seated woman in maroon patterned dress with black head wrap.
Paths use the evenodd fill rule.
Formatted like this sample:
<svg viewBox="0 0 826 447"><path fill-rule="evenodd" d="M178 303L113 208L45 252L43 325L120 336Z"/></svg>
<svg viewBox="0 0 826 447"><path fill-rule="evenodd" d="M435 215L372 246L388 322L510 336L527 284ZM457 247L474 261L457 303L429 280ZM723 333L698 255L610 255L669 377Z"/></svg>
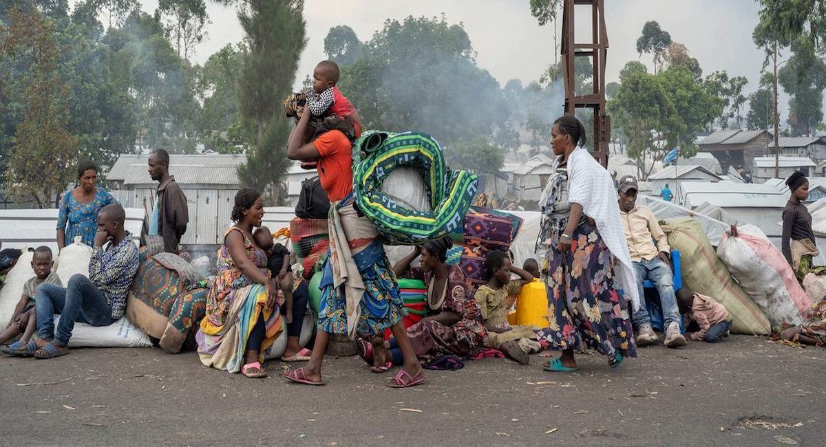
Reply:
<svg viewBox="0 0 826 447"><path fill-rule="evenodd" d="M425 242L393 266L397 276L406 273L406 277L422 280L427 286L429 315L407 328L413 351L425 363L451 354L476 355L487 339L487 330L482 325L482 311L468 294L462 269L445 262L448 249L452 246L453 242L448 237ZM421 265L410 267L418 256L421 256ZM371 369L375 373L401 363L401 351L392 338L383 341L377 337L372 344L359 340L358 345L359 355L373 365Z"/></svg>

